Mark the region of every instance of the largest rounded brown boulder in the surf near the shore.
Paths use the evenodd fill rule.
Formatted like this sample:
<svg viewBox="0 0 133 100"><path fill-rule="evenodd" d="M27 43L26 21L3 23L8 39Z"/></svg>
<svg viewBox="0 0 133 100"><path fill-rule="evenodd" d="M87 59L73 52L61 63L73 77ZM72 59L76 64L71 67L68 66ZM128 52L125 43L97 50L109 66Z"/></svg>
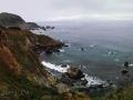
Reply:
<svg viewBox="0 0 133 100"><path fill-rule="evenodd" d="M73 66L68 69L68 73L71 79L81 79L85 77L80 69Z"/></svg>

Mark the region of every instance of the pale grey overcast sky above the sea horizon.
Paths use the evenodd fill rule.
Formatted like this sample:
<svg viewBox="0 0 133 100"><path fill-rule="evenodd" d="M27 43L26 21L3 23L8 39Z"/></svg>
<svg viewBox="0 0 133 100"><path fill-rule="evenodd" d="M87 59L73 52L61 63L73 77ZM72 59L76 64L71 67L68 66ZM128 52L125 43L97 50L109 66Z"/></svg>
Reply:
<svg viewBox="0 0 133 100"><path fill-rule="evenodd" d="M0 12L25 21L133 20L133 0L0 0Z"/></svg>

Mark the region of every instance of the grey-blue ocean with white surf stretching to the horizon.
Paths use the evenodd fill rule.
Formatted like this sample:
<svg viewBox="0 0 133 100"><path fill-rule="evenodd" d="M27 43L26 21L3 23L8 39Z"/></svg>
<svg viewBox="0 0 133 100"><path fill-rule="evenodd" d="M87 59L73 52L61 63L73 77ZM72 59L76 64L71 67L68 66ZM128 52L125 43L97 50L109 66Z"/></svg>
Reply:
<svg viewBox="0 0 133 100"><path fill-rule="evenodd" d="M131 83L133 79L133 22L132 21L90 21L90 22L42 22L55 29L33 30L66 43L61 52L40 54L40 60L54 78L60 78L66 68L76 66L85 73L90 84L105 83L113 88ZM83 49L83 50L82 50ZM124 67L129 61L130 66ZM82 66L82 67L81 67ZM122 74L126 69L127 74Z"/></svg>

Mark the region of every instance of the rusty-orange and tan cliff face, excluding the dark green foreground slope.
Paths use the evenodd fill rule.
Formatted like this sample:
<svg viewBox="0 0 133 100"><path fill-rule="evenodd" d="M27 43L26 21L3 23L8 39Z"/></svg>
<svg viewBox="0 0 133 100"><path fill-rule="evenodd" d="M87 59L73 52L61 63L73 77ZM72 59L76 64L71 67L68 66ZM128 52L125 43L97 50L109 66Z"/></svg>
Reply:
<svg viewBox="0 0 133 100"><path fill-rule="evenodd" d="M55 40L42 36L40 37L30 31L4 29L0 41L0 59L14 70L14 73L25 74L32 81L40 84L53 84L54 80L47 72L39 61L38 56L32 51L35 44L57 43Z"/></svg>

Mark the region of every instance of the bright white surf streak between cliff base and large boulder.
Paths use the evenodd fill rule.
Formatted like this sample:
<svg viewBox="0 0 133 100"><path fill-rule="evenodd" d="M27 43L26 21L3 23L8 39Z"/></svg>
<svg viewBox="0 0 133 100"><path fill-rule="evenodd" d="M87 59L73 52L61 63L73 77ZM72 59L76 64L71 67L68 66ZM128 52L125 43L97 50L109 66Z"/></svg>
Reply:
<svg viewBox="0 0 133 100"><path fill-rule="evenodd" d="M62 68L61 66L55 66L55 64L52 64L52 63L45 62L45 61L42 61L42 64L49 69L53 69L59 72L66 72L66 69L69 68L69 66L66 68Z"/></svg>

